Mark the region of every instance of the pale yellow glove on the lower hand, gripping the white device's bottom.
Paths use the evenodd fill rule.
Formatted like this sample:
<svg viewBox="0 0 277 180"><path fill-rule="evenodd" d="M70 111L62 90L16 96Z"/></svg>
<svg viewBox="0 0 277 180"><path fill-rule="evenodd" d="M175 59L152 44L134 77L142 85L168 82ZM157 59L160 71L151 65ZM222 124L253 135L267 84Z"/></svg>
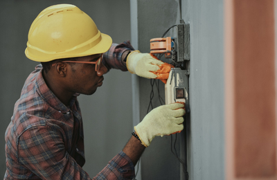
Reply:
<svg viewBox="0 0 277 180"><path fill-rule="evenodd" d="M134 127L141 143L148 147L155 136L181 132L184 129L184 102L162 105L150 111L139 125Z"/></svg>

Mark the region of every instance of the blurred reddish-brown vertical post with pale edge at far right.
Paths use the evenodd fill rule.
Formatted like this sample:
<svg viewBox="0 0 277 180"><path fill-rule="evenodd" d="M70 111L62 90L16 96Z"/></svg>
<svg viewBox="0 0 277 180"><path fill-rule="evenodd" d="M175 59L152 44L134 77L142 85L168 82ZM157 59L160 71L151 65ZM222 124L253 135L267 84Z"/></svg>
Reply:
<svg viewBox="0 0 277 180"><path fill-rule="evenodd" d="M226 179L277 179L274 0L225 0Z"/></svg>

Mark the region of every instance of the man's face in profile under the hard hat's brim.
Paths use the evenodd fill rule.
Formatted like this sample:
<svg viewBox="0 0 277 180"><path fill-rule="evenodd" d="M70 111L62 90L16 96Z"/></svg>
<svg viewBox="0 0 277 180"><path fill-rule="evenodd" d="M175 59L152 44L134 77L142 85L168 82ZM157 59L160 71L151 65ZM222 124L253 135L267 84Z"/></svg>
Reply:
<svg viewBox="0 0 277 180"><path fill-rule="evenodd" d="M100 54L78 57L77 61L96 62ZM71 91L91 95L96 89L102 86L103 74L107 73L107 68L101 63L98 72L95 70L96 64L75 63L69 70L69 82Z"/></svg>

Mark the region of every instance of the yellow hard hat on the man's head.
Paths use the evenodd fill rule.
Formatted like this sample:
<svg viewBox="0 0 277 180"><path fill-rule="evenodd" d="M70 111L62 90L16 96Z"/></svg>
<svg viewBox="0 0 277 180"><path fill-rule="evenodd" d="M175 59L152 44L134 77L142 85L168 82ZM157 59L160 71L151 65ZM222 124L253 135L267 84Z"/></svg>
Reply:
<svg viewBox="0 0 277 180"><path fill-rule="evenodd" d="M33 21L25 54L30 60L49 62L105 53L111 43L89 15L71 4L58 4L42 10Z"/></svg>

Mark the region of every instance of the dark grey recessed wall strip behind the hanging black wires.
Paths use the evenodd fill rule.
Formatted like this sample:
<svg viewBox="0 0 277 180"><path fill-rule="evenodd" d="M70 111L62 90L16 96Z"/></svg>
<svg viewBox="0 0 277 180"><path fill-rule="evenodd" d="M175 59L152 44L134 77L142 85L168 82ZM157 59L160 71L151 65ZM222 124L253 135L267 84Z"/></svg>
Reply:
<svg viewBox="0 0 277 180"><path fill-rule="evenodd" d="M138 1L139 50L150 53L150 39L161 37L177 19L176 1ZM147 114L150 102L150 80L139 78L140 116ZM161 96L164 97L163 82L159 82ZM163 98L164 99L164 98ZM157 87L154 86L154 107L161 105ZM154 138L141 158L142 179L180 179L179 161L170 149L170 136ZM179 143L177 150L179 153Z"/></svg>

